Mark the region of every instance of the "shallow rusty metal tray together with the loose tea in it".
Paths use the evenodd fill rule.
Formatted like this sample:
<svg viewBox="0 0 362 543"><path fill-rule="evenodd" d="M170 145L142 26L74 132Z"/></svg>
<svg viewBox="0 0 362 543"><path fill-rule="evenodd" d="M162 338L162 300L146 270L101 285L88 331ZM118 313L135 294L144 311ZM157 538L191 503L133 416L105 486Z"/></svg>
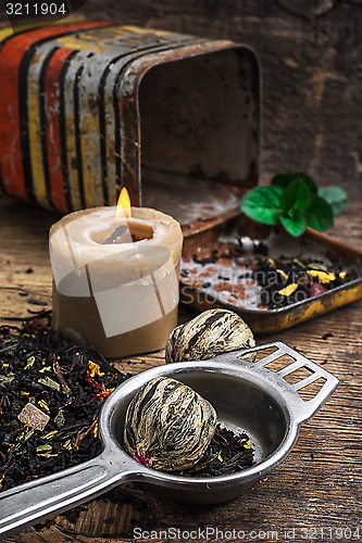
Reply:
<svg viewBox="0 0 362 543"><path fill-rule="evenodd" d="M180 299L270 333L362 298L362 251L312 229L294 238L239 217L186 237Z"/></svg>

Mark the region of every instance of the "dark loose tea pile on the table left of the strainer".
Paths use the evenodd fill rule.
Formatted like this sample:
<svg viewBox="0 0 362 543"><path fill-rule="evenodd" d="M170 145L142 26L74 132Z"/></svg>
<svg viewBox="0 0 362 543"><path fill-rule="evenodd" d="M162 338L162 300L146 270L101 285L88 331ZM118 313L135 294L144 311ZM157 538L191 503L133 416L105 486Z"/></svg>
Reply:
<svg viewBox="0 0 362 543"><path fill-rule="evenodd" d="M99 409L125 378L39 321L0 327L1 490L97 456Z"/></svg>

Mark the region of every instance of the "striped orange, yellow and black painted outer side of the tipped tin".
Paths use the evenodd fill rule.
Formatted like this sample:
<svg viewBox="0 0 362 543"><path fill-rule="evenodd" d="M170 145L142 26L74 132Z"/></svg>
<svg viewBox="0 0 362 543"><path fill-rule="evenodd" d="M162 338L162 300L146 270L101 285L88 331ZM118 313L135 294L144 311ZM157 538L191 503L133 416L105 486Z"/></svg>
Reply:
<svg viewBox="0 0 362 543"><path fill-rule="evenodd" d="M140 72L160 62L158 53L170 60L200 38L82 22L12 36L0 30L1 39L3 191L67 213L114 205L130 178L137 203Z"/></svg>

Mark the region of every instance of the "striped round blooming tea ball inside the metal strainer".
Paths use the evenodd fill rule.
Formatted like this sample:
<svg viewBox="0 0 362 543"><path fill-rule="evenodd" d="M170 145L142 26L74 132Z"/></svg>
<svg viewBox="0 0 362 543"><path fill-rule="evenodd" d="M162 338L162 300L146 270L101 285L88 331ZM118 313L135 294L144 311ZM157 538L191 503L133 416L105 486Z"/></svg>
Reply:
<svg viewBox="0 0 362 543"><path fill-rule="evenodd" d="M125 450L153 469L187 469L202 457L215 428L216 412L207 400L175 379L158 377L128 405Z"/></svg>

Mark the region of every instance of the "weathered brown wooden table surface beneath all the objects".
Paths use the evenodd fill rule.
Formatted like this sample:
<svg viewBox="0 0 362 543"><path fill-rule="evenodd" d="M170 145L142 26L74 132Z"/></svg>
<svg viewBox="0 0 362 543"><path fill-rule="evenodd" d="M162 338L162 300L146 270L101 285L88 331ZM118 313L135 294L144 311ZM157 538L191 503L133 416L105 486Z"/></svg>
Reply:
<svg viewBox="0 0 362 543"><path fill-rule="evenodd" d="M360 192L354 187L348 209L337 217L330 235L362 249ZM39 310L41 303L51 308L48 228L58 218L0 200L1 324L9 317L28 316L28 310ZM242 532L244 541L362 539L361 310L362 301L354 302L292 329L257 338L259 344L282 340L296 348L336 375L340 386L302 426L289 456L248 494L222 505L197 507L163 502L128 488L118 503L98 498L86 504L75 522L58 516L41 529L30 528L7 541L116 543L137 539L139 532L134 533L134 528L149 531L152 541L238 541ZM180 310L182 319L192 316L188 308ZM324 340L325 332L333 337ZM138 372L163 363L163 352L159 352L127 358L121 368ZM199 528L200 533L187 533ZM140 541L147 540L148 534L143 535Z"/></svg>

